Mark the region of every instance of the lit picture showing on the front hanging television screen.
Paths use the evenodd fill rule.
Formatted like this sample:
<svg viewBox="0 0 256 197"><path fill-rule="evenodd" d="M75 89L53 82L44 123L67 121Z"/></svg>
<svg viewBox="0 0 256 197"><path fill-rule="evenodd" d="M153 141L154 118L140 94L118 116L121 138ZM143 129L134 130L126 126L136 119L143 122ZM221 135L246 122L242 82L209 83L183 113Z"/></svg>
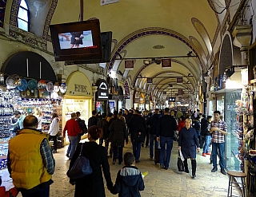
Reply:
<svg viewBox="0 0 256 197"><path fill-rule="evenodd" d="M61 49L91 48L94 46L91 30L70 33L58 33Z"/></svg>

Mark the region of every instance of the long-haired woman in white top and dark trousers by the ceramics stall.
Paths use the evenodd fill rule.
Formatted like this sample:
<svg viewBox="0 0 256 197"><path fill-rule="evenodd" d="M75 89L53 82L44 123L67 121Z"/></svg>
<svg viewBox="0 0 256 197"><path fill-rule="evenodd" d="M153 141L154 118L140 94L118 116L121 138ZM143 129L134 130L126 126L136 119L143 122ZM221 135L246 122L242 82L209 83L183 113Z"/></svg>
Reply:
<svg viewBox="0 0 256 197"><path fill-rule="evenodd" d="M58 113L53 112L52 118L51 118L51 123L50 123L50 128L49 128L49 141L51 139L54 140L54 150L53 153L57 153L57 134L59 131L59 118L58 118Z"/></svg>

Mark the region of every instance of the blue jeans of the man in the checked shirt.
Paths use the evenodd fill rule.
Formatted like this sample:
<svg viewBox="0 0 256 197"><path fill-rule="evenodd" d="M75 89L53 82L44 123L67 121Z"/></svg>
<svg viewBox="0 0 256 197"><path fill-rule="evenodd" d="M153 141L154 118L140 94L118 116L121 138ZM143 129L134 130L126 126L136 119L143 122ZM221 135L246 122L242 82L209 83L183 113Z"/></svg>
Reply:
<svg viewBox="0 0 256 197"><path fill-rule="evenodd" d="M213 156L213 166L217 167L217 154L219 153L219 165L221 168L226 167L224 152L225 152L225 142L223 143L212 143L212 156Z"/></svg>

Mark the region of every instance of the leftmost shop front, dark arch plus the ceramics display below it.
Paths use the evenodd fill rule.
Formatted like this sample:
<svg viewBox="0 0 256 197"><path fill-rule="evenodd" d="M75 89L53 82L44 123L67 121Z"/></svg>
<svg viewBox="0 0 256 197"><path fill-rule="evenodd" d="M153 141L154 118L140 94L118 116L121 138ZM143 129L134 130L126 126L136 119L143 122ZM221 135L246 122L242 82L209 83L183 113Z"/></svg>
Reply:
<svg viewBox="0 0 256 197"><path fill-rule="evenodd" d="M66 85L58 83L49 62L37 53L15 53L4 62L0 72L0 169L6 167L8 141L16 135L11 126L15 122L14 111L37 116L42 132L48 132L52 112L60 113L62 121L65 90ZM59 148L61 144L62 141Z"/></svg>

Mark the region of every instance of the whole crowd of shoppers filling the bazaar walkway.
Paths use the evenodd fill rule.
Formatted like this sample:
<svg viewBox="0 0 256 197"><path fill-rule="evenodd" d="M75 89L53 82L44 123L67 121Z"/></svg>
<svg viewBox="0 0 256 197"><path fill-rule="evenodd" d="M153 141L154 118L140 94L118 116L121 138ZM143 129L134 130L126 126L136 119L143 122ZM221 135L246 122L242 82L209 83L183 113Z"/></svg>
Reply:
<svg viewBox="0 0 256 197"><path fill-rule="evenodd" d="M58 136L59 118L56 112L52 114L49 136L42 132L40 112L36 116L23 116L15 112L18 121L12 124L19 125L18 135L9 143L7 156L8 170L13 179L14 186L22 192L22 196L49 196L51 177L54 173L55 161L53 153L57 152L56 137ZM149 148L149 160L156 161L156 150L159 152L159 167L167 170L170 164L174 141L178 140L178 150L184 158L184 171L189 173L187 160L190 158L192 174L196 177L196 156L202 148L202 156L210 156L213 163L212 172L218 171L217 156L222 174L225 171L225 136L226 123L221 119L218 111L213 116L205 116L199 110L189 113L180 109L174 112L170 108L164 110L154 109L154 112L141 112L136 109L125 109L113 113L100 113L95 110L86 125L80 119L80 112L71 113L70 120L66 121L62 135L70 141L66 156L70 160L70 168L78 156L86 156L90 160L92 174L79 179L70 179L75 185L74 196L105 196L102 175L106 179L106 186L113 194L119 196L140 196L139 191L144 190L143 175L135 167L140 162L141 148ZM41 117L42 118L42 117ZM88 132L89 142L80 143L81 136ZM130 136L130 138L129 138ZM32 140L33 139L33 140ZM54 140L54 150L49 146L49 140ZM98 140L98 143L96 142ZM125 144L132 144L133 152L123 154ZM22 141L22 144L19 143ZM212 145L212 152L209 147ZM159 148L160 146L160 148ZM82 147L82 149L81 149ZM97 152L97 154L95 154ZM22 158L22 159L21 159ZM124 165L118 171L115 184L110 176L110 164ZM36 165L34 165L36 162ZM37 173L31 173L32 169ZM102 174L103 172L103 174ZM84 185L89 187L84 187Z"/></svg>

